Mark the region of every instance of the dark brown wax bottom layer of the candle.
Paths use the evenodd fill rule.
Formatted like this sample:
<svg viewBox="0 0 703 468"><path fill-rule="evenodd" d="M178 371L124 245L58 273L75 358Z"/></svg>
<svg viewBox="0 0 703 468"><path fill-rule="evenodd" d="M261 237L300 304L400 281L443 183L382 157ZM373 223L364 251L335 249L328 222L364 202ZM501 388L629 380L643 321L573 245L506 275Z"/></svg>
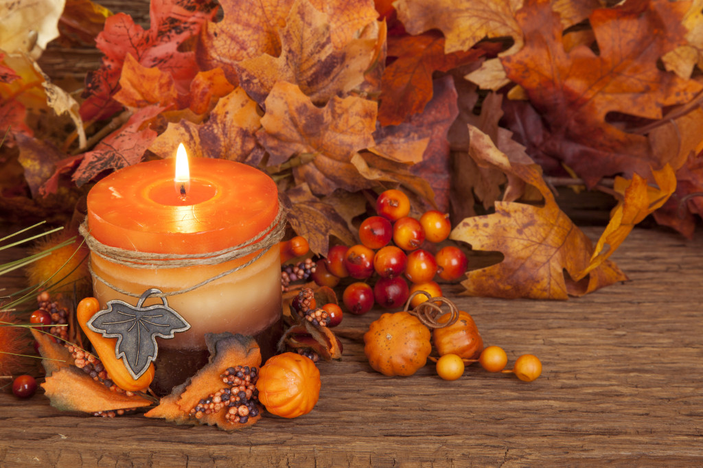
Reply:
<svg viewBox="0 0 703 468"><path fill-rule="evenodd" d="M283 319L254 335L262 352L262 365L276 354L276 345L281 336L283 336ZM188 377L195 375L195 372L207 364L208 358L207 349L160 348L154 363L156 372L151 389L158 396L170 394L174 386L186 382ZM237 363L231 363L231 365L237 365Z"/></svg>

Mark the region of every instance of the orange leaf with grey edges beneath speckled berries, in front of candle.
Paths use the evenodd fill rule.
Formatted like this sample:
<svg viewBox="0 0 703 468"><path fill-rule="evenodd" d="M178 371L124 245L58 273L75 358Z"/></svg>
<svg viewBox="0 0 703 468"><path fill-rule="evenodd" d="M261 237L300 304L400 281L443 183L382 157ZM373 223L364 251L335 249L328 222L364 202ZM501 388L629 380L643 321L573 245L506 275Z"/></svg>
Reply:
<svg viewBox="0 0 703 468"><path fill-rule="evenodd" d="M252 337L241 334L205 334L210 352L209 362L193 377L174 387L171 394L161 398L159 405L146 413L146 417L162 417L176 424L217 425L220 429L233 430L247 427L261 418L261 413L249 417L245 424L231 424L225 419L226 410L220 410L198 419L189 415L202 398L207 398L226 387L221 375L227 368L236 365L259 368L262 363L259 345Z"/></svg>

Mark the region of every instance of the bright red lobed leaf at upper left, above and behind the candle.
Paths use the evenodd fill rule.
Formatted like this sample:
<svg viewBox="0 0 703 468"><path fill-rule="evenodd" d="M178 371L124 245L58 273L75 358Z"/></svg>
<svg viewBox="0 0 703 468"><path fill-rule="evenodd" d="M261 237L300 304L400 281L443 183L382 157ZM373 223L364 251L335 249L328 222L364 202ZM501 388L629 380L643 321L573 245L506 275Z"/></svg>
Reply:
<svg viewBox="0 0 703 468"><path fill-rule="evenodd" d="M209 1L153 0L150 28L134 24L129 15L117 13L105 20L96 46L105 54L98 70L86 76L81 115L85 120L109 117L121 106L112 95L119 89L122 65L127 55L144 67L157 67L172 75L176 89L186 93L198 72L193 51L181 51L188 39L200 33L202 24L217 12Z"/></svg>

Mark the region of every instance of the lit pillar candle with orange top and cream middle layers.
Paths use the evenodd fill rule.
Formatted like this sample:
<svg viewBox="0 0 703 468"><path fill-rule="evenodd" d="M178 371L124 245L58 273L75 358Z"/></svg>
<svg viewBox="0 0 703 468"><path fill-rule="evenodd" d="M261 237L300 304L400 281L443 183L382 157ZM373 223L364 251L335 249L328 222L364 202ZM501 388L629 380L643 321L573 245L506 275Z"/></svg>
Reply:
<svg viewBox="0 0 703 468"><path fill-rule="evenodd" d="M175 173L174 162L142 162L96 183L87 200L87 228L93 238L106 246L145 252L146 256L207 257L257 241L276 220L278 190L262 171L228 160L195 158L190 162L190 175L184 175ZM186 290L251 261L257 254L261 251L219 264L173 268L164 268L160 260L154 260L153 268L136 268L91 252L93 291L103 307L112 299L136 304L136 297L150 288ZM159 341L157 369L162 349L202 351L207 332L260 335L280 320L278 248L269 249L245 268L167 300L191 329ZM160 301L150 298L144 305Z"/></svg>

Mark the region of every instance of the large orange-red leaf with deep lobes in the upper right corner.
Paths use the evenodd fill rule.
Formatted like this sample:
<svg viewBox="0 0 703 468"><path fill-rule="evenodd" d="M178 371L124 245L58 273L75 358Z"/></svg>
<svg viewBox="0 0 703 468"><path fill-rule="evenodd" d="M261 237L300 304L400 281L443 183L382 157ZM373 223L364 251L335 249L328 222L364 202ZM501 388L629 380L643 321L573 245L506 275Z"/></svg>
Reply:
<svg viewBox="0 0 703 468"><path fill-rule="evenodd" d="M567 53L549 2L527 1L517 14L524 48L501 58L546 125L546 135L524 132L522 143L529 148L529 140L541 138L538 150L567 164L589 186L612 174L649 177L650 167L662 167L645 136L626 133L606 122L606 115L659 119L664 106L685 103L701 89L657 67L659 57L685 43L686 8L652 0L596 10L589 20L599 53L586 46Z"/></svg>

